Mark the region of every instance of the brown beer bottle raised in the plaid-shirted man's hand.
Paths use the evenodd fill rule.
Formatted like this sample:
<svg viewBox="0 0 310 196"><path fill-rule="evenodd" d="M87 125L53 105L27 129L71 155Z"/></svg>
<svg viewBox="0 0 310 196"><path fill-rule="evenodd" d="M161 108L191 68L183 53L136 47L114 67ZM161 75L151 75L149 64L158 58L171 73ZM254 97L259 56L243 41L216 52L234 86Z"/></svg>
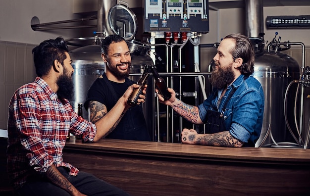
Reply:
<svg viewBox="0 0 310 196"><path fill-rule="evenodd" d="M138 99L140 98L139 95L143 94L142 91L144 90L144 85L147 84L149 78L149 65L145 65L143 74L141 78L138 80L137 84L139 88L135 88L131 93L130 97L127 100L127 104L130 106L135 106L138 103Z"/></svg>

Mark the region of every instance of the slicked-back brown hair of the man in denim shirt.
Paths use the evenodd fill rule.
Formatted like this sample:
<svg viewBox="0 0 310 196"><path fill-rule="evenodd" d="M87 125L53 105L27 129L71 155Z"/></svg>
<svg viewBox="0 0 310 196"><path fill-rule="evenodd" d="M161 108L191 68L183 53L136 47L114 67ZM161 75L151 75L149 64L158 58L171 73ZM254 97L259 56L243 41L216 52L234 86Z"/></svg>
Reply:
<svg viewBox="0 0 310 196"><path fill-rule="evenodd" d="M252 42L247 36L239 33L227 35L224 39L229 38L235 40L236 44L235 48L230 51L234 60L237 58L242 58L243 60L243 63L239 67L239 70L242 74L246 76L253 74L255 53Z"/></svg>

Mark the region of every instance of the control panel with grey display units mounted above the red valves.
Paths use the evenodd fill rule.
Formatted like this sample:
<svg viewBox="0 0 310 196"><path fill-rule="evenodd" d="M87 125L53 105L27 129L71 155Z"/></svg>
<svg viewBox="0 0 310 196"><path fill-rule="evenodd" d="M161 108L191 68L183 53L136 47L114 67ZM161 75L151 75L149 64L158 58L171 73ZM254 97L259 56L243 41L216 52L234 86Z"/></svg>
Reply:
<svg viewBox="0 0 310 196"><path fill-rule="evenodd" d="M208 0L145 0L145 32L209 31Z"/></svg>

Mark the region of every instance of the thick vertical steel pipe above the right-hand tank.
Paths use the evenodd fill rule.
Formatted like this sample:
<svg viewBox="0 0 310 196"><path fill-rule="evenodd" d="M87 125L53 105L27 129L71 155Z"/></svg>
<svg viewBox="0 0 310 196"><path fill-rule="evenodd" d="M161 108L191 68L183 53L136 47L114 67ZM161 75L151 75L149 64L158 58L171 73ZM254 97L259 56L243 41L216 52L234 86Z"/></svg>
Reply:
<svg viewBox="0 0 310 196"><path fill-rule="evenodd" d="M260 38L263 33L263 1L245 0L246 36Z"/></svg>

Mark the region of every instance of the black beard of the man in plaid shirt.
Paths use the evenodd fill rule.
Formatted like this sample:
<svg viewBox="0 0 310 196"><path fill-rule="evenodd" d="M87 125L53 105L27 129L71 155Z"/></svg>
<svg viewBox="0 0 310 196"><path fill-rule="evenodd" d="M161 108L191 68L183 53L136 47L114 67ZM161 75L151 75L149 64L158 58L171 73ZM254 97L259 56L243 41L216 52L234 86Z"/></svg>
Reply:
<svg viewBox="0 0 310 196"><path fill-rule="evenodd" d="M58 77L56 84L58 85L57 97L62 99L66 98L71 100L73 97L73 82L71 77L66 75L67 71L64 70L63 74Z"/></svg>

